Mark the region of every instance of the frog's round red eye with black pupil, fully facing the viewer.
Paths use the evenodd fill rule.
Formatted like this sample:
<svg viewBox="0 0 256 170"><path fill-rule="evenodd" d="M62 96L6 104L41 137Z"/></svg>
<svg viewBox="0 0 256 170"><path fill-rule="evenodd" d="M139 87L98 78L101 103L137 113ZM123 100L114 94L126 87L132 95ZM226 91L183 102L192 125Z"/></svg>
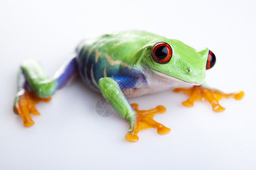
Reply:
<svg viewBox="0 0 256 170"><path fill-rule="evenodd" d="M152 57L158 63L168 63L172 58L172 48L166 42L158 42L152 48Z"/></svg>

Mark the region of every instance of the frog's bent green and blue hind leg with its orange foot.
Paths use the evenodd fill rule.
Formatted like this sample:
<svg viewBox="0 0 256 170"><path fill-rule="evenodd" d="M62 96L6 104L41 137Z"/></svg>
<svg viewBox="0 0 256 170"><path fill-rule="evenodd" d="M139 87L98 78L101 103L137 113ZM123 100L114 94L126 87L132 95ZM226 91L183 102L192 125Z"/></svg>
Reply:
<svg viewBox="0 0 256 170"><path fill-rule="evenodd" d="M51 100L55 91L62 88L76 73L77 62L74 56L68 59L51 79L38 62L23 62L18 78L18 93L14 101L14 112L22 117L23 125L34 125L30 113L39 115L34 104Z"/></svg>

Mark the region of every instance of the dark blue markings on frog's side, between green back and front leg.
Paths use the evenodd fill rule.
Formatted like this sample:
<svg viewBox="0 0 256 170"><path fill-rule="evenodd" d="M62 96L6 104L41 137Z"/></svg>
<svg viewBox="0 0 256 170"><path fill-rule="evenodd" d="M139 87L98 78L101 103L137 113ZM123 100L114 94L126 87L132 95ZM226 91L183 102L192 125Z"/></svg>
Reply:
<svg viewBox="0 0 256 170"><path fill-rule="evenodd" d="M112 77L119 84L119 87L121 88L121 90L125 88L136 87L140 83L147 83L146 78L141 71L133 68L129 69L121 65L110 66L105 56L103 56L104 54L101 54L100 58L98 59L98 62L96 63L95 51L93 51L90 54L88 63L85 66L86 57L88 56L89 48L86 50L83 56L80 56L82 49L80 50L79 55L77 56L77 61L79 61L78 65L79 65L79 70L82 73L81 75L84 76L84 79L86 79L86 76L88 78L86 79L85 83L87 83L89 86L92 86L98 89L98 87L95 86L95 84L92 81L92 77L90 73L90 69L92 65L93 65L93 76L97 83L98 83L98 80L100 80L100 78L104 77L104 69L106 69L107 76ZM86 69L84 69L85 67ZM85 72L84 70L86 70L86 76L84 74Z"/></svg>

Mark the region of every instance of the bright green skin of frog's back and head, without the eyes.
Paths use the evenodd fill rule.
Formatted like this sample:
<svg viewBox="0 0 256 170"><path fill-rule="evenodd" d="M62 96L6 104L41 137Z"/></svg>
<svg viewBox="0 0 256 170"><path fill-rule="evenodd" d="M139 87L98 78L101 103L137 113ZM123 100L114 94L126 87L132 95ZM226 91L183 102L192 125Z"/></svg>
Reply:
<svg viewBox="0 0 256 170"><path fill-rule="evenodd" d="M156 42L167 42L171 45L172 58L169 63L163 65L152 59L151 49ZM134 64L135 67L147 65L155 71L194 85L202 84L205 79L205 65L209 52L207 48L197 51L181 41L144 31L121 32L84 40L77 48L81 50L85 44L131 67ZM190 70L189 73L187 69Z"/></svg>

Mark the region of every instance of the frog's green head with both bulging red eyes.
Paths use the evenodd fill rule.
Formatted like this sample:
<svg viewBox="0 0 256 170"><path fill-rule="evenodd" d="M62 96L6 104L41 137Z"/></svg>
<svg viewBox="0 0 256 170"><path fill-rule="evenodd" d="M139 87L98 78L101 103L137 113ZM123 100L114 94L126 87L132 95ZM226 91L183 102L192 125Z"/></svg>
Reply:
<svg viewBox="0 0 256 170"><path fill-rule="evenodd" d="M197 51L177 40L151 41L143 49L142 64L156 74L192 85L202 84L205 71L216 62L209 49Z"/></svg>

